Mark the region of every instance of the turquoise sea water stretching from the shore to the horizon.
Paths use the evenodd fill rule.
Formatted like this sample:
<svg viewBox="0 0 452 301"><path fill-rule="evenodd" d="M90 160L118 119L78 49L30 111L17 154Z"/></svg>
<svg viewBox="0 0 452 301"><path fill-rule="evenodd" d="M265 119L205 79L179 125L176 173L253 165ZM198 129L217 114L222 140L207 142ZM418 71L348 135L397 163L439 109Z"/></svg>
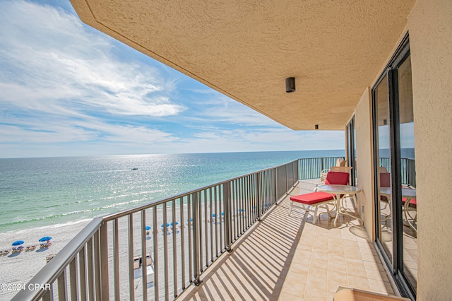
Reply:
<svg viewBox="0 0 452 301"><path fill-rule="evenodd" d="M0 159L0 232L88 220L298 158L344 153L337 150Z"/></svg>

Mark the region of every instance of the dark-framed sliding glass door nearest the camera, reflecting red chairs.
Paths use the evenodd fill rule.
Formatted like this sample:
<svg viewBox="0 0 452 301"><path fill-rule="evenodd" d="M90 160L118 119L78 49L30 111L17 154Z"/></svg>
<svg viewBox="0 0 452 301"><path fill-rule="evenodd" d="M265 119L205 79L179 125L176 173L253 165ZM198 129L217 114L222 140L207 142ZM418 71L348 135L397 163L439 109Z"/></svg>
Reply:
<svg viewBox="0 0 452 301"><path fill-rule="evenodd" d="M414 118L408 36L372 89L376 244L406 297L417 287Z"/></svg>

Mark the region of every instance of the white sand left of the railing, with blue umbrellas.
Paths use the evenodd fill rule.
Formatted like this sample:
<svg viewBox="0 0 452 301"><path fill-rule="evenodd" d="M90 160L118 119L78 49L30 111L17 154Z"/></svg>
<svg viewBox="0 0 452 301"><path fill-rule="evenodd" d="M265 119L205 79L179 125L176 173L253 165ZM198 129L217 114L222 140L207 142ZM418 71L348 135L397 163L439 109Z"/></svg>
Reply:
<svg viewBox="0 0 452 301"><path fill-rule="evenodd" d="M5 284L25 285L46 264L46 257L57 254L63 247L80 232L90 220L82 220L63 225L33 228L0 233L0 251L9 249L6 256L0 256L0 300L11 300L16 291L6 288ZM41 237L52 237L52 245L40 249ZM23 240L23 251L11 253L11 244L16 240ZM36 245L34 251L25 252L25 248ZM5 290L6 288L6 290Z"/></svg>

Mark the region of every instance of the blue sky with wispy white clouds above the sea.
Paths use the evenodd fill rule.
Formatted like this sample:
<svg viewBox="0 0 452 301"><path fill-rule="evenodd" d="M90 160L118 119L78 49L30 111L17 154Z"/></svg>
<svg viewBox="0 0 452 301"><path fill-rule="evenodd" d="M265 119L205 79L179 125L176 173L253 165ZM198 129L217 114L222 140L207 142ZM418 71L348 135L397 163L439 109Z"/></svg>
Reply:
<svg viewBox="0 0 452 301"><path fill-rule="evenodd" d="M0 158L344 148L293 131L85 25L68 0L0 0Z"/></svg>

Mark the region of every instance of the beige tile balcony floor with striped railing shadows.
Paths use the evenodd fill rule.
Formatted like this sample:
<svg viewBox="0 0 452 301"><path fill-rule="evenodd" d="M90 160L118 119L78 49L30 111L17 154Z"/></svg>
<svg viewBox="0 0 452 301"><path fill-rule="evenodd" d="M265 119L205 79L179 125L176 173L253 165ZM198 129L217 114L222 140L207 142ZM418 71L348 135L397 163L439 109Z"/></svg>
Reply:
<svg viewBox="0 0 452 301"><path fill-rule="evenodd" d="M299 182L290 195L312 191ZM367 232L355 218L327 214L317 225L289 196L246 232L178 300L333 300L339 285L393 295ZM352 208L352 203L347 201Z"/></svg>

